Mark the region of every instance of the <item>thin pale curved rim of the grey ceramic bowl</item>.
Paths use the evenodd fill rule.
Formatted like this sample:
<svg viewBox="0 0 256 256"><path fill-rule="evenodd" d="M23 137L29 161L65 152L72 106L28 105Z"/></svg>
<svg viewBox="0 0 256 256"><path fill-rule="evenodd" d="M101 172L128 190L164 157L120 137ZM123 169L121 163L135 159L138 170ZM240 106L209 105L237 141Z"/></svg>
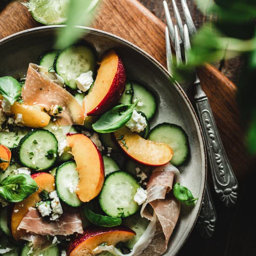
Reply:
<svg viewBox="0 0 256 256"><path fill-rule="evenodd" d="M37 31L45 31L45 30L56 30L58 28L61 27L66 27L66 25L50 25L50 26L40 26L40 27L33 27L33 28L28 28L26 30L22 30L20 32L11 34L5 38L0 39L0 46L7 42L8 40L12 40L16 37L20 37L23 34L30 34L33 32L37 32ZM199 200L197 201L197 204L200 204L197 212L195 214L195 219L193 223L189 223L188 229L186 230L186 232L184 232L184 235L182 236L182 238L180 239L180 241L177 243L176 247L173 248L173 253L171 252L171 254L173 256L177 255L178 252L182 249L183 245L186 243L187 239L189 238L192 230L194 229L195 223L197 221L197 218L199 216L200 213L200 209L202 206L202 201L203 201L203 196L204 196L204 192L205 192L205 187L206 187L206 180L207 180L207 158L206 158L206 148L205 148L205 143L204 143L204 139L203 139L203 134L202 134L202 129L201 129L201 125L200 122L197 118L197 115L195 113L195 110L191 104L191 102L189 101L189 98L187 97L187 95L185 94L185 92L183 91L182 87L179 85L179 83L177 81L175 81L175 79L173 78L173 76L168 72L168 70L159 62L157 61L155 58L153 58L150 54L148 54L147 52L145 52L144 50L142 50L140 47L136 46L135 44L129 42L126 39L123 39L117 35L102 31L100 29L96 29L96 28L91 28L91 27L83 27L83 26L75 26L79 29L84 30L84 32L88 32L88 34L96 34L96 35L101 35L104 37L108 37L111 40L115 40L118 42L121 42L122 44L124 44L125 46L131 47L133 48L136 52L139 52L139 54L144 55L144 57L146 57L149 61L153 62L156 66L158 66L162 72L167 75L170 79L171 82L175 85L176 90L178 91L178 93L181 95L181 97L183 97L183 99L185 100L186 105L189 108L189 112L190 115L192 116L192 119L194 121L194 123L197 125L196 128L196 132L197 132L197 136L199 139L199 145L201 148L201 160L202 160L202 173L201 173L201 178L202 178L202 183L200 186L200 195ZM167 255L165 253L165 255Z"/></svg>

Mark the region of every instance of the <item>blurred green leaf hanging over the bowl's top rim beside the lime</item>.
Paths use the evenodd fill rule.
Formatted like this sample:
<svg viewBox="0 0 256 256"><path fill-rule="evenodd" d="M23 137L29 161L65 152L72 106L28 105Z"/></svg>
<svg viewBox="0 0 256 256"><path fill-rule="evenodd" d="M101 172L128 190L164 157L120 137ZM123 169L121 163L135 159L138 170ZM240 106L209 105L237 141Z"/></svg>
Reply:
<svg viewBox="0 0 256 256"><path fill-rule="evenodd" d="M89 26L100 0L72 0L67 13L67 27L61 29L55 47L63 49L76 42L84 30L74 26Z"/></svg>

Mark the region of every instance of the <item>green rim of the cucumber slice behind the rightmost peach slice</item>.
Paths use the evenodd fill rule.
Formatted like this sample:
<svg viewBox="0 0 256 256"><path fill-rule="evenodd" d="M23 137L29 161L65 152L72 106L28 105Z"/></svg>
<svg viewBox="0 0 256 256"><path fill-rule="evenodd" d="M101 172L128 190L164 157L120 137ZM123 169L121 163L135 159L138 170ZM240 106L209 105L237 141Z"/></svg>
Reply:
<svg viewBox="0 0 256 256"><path fill-rule="evenodd" d="M171 128L171 129L176 129L178 130L182 135L183 138L182 140L184 141L184 145L182 145L184 147L184 152L182 153L182 159L181 160L176 160L175 157L175 148L172 147L172 145L168 144L166 141L164 140L155 140L154 138L152 138L154 136L154 133L157 132L159 129L164 129L164 128ZM167 135L165 135L167 136ZM190 153L190 149L189 149L189 137L187 135L187 133L185 132L185 130L177 125L177 124L172 124L172 123L168 123L168 122L164 122L161 124L158 124L157 126L155 126L148 135L148 140L153 140L153 141L157 141L157 142L163 142L163 143L167 143L171 148L173 148L174 150L174 155L173 158L171 159L171 163L175 166L181 166L184 162L187 161L188 157L189 157L189 153Z"/></svg>

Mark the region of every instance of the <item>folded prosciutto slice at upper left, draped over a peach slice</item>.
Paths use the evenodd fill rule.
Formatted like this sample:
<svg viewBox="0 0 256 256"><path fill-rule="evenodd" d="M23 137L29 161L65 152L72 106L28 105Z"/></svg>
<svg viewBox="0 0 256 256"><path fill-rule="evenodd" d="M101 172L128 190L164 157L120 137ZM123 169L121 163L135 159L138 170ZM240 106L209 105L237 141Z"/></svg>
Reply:
<svg viewBox="0 0 256 256"><path fill-rule="evenodd" d="M40 73L39 66L30 63L27 78L22 88L22 99L25 104L39 106L50 110L52 105L63 108L58 115L56 124L59 126L84 123L86 112L66 89L61 88L51 79L52 74Z"/></svg>

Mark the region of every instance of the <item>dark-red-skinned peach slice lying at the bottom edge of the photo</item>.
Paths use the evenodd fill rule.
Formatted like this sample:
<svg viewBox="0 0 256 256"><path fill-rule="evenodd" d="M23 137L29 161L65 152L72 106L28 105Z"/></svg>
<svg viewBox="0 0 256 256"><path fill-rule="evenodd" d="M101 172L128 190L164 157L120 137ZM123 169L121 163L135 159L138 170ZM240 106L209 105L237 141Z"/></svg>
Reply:
<svg viewBox="0 0 256 256"><path fill-rule="evenodd" d="M119 242L126 242L135 236L132 229L124 226L113 228L90 226L85 229L84 233L78 235L74 241L67 246L68 256L93 256L93 251L101 243L106 245L116 245Z"/></svg>

